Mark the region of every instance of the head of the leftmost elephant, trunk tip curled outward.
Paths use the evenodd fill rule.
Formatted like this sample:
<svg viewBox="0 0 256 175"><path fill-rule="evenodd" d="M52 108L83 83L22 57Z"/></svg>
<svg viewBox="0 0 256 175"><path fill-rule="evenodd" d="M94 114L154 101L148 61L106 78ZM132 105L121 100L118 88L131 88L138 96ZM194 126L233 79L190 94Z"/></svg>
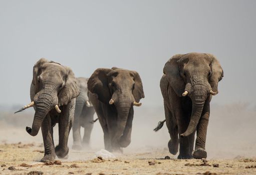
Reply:
<svg viewBox="0 0 256 175"><path fill-rule="evenodd" d="M73 71L69 67L41 58L33 67L32 103L27 107L34 106L35 115L32 128L27 127L27 132L37 135L50 110L55 108L60 113L59 106L68 104L78 95L79 87Z"/></svg>

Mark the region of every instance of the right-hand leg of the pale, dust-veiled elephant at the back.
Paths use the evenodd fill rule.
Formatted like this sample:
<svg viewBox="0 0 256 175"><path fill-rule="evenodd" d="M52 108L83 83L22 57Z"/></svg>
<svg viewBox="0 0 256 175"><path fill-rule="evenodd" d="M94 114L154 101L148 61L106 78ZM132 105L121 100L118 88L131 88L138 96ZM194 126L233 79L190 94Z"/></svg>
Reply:
<svg viewBox="0 0 256 175"><path fill-rule="evenodd" d="M93 123L91 121L93 120L93 115L95 113L95 110L93 107L86 107L85 110L85 120L84 120L84 136L83 136L83 146L89 147L90 139L91 139L91 133L93 129Z"/></svg>

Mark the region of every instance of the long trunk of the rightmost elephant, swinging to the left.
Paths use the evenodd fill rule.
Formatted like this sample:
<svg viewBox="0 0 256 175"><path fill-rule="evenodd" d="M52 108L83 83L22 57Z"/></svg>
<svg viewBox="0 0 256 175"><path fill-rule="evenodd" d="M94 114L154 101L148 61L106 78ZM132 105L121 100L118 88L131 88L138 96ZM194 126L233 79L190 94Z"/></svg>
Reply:
<svg viewBox="0 0 256 175"><path fill-rule="evenodd" d="M181 137L190 135L196 129L201 117L204 102L208 95L208 91L208 88L204 87L203 85L194 85L191 88L191 92L189 94L190 98L192 99L191 117L186 131L180 134Z"/></svg>

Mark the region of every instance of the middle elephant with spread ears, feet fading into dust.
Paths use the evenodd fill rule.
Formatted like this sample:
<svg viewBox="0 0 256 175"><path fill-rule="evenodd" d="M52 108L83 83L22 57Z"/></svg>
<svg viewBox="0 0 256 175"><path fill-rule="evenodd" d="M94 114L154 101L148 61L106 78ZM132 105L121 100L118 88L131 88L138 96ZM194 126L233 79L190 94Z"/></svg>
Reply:
<svg viewBox="0 0 256 175"><path fill-rule="evenodd" d="M88 80L88 89L104 132L105 149L122 152L131 142L133 105L140 106L140 99L145 97L139 73L98 68Z"/></svg>

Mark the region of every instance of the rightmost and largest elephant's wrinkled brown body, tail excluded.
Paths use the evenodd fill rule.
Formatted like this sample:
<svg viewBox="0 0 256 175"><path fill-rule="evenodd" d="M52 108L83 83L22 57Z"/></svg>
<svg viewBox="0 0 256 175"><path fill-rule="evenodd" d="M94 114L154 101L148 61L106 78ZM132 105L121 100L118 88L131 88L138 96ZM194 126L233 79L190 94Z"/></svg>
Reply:
<svg viewBox="0 0 256 175"><path fill-rule="evenodd" d="M210 90L218 93L223 70L212 54L176 54L165 64L160 81L172 154L179 159L206 158L206 131L210 113ZM182 96L187 90L188 95ZM195 150L194 135L196 131Z"/></svg>

